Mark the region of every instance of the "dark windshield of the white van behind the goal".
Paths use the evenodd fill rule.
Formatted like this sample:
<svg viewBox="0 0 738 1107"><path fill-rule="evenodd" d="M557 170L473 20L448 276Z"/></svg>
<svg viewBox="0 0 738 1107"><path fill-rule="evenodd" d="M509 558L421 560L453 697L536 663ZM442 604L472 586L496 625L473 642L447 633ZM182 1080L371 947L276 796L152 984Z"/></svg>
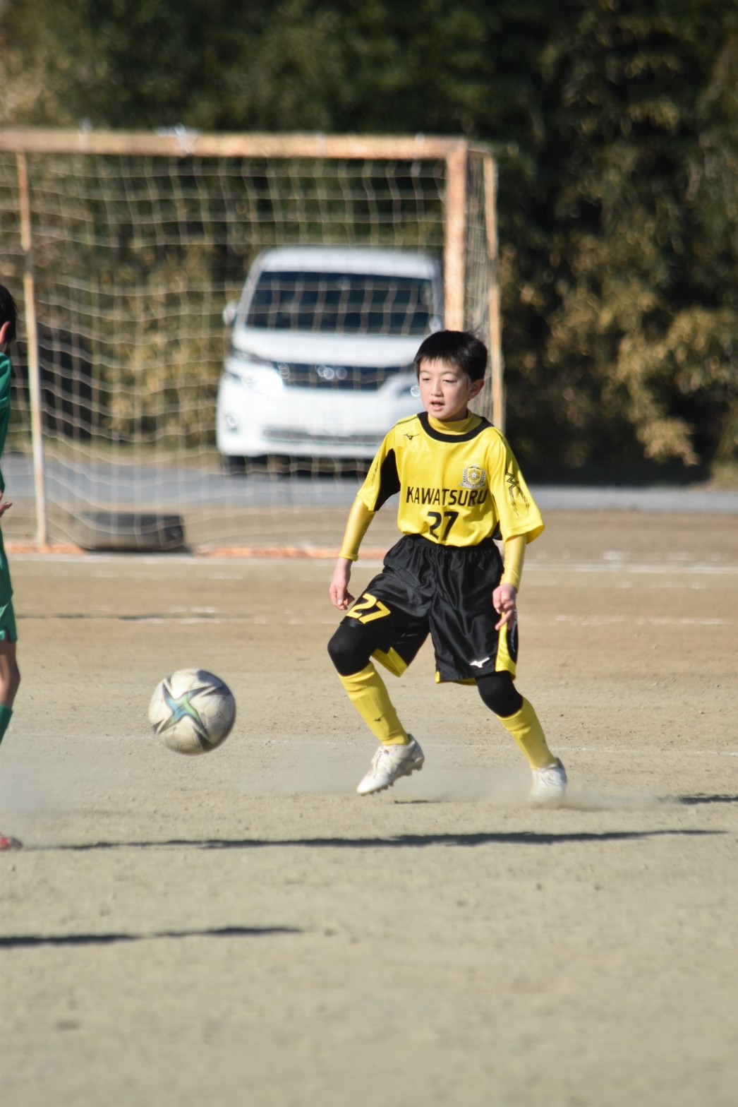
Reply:
<svg viewBox="0 0 738 1107"><path fill-rule="evenodd" d="M331 334L426 334L433 282L378 273L262 272L246 325Z"/></svg>

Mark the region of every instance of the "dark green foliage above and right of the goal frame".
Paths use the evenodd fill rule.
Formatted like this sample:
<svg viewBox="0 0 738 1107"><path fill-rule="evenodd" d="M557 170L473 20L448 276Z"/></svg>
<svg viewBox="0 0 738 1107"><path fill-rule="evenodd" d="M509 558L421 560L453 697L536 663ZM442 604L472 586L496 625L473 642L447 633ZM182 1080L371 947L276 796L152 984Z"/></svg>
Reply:
<svg viewBox="0 0 738 1107"><path fill-rule="evenodd" d="M519 453L736 458L735 0L6 0L0 125L82 118L491 142Z"/></svg>

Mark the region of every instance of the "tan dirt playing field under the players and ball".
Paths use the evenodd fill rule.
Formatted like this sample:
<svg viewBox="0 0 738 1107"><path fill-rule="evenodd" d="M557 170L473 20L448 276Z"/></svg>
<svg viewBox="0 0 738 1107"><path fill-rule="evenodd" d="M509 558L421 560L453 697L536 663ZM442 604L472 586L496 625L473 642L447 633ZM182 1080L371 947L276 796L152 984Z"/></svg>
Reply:
<svg viewBox="0 0 738 1107"><path fill-rule="evenodd" d="M426 766L354 794L326 560L12 559L3 1107L734 1107L736 518L547 521L518 686L554 811L427 648L389 677ZM191 665L239 707L199 758L146 722Z"/></svg>

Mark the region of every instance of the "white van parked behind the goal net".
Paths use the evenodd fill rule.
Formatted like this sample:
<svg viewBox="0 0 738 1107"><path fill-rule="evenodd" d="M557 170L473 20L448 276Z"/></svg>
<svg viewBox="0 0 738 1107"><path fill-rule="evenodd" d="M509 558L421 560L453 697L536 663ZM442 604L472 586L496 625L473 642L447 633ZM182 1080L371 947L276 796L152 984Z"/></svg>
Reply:
<svg viewBox="0 0 738 1107"><path fill-rule="evenodd" d="M365 459L419 410L413 359L443 325L443 279L425 254L294 246L254 261L218 389L224 466L249 457Z"/></svg>

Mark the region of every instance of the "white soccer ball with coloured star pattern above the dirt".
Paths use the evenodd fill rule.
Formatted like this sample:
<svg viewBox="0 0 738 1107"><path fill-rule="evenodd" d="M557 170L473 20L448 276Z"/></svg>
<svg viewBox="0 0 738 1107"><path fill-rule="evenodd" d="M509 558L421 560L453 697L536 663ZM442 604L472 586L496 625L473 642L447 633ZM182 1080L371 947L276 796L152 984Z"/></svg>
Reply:
<svg viewBox="0 0 738 1107"><path fill-rule="evenodd" d="M179 669L156 685L148 721L169 749L206 754L230 734L236 701L219 676L204 669Z"/></svg>

